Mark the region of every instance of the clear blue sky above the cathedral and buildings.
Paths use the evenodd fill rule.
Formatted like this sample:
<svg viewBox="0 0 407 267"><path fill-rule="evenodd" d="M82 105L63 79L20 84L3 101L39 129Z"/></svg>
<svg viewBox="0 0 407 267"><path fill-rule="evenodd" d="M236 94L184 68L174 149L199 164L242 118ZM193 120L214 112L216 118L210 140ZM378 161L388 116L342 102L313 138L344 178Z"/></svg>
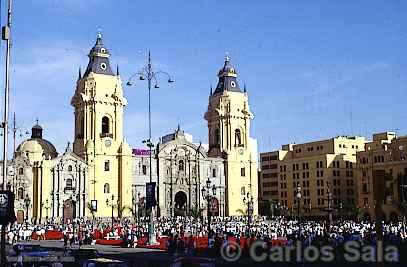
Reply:
<svg viewBox="0 0 407 267"><path fill-rule="evenodd" d="M38 117L60 152L73 139L70 99L98 28L124 81L147 49L175 77L152 93L156 139L180 123L195 141L207 141L203 114L226 51L249 92L259 151L336 135L407 133L405 1L14 3L11 111L22 129ZM146 84L125 94L125 134L141 147Z"/></svg>

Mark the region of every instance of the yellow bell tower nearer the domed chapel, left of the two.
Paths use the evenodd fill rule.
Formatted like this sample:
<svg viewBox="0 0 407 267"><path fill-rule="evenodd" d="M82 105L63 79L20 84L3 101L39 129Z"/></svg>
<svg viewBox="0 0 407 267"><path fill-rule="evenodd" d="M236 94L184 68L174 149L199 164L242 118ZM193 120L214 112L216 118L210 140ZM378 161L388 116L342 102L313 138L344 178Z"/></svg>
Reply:
<svg viewBox="0 0 407 267"><path fill-rule="evenodd" d="M102 35L89 52L89 63L76 83L71 105L75 108L74 153L89 166L89 199L97 201L96 216L110 216L111 204L131 203L131 149L123 137L127 100L119 71L113 73L110 53ZM89 212L89 211L88 211Z"/></svg>

